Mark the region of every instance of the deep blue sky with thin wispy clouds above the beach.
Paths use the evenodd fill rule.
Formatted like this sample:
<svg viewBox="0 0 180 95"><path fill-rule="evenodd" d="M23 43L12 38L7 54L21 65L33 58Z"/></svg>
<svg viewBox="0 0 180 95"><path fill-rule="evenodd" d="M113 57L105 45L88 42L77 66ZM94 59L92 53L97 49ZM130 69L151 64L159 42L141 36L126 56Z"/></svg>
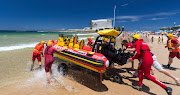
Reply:
<svg viewBox="0 0 180 95"><path fill-rule="evenodd" d="M125 30L180 25L180 0L0 0L0 30L60 31L113 19Z"/></svg>

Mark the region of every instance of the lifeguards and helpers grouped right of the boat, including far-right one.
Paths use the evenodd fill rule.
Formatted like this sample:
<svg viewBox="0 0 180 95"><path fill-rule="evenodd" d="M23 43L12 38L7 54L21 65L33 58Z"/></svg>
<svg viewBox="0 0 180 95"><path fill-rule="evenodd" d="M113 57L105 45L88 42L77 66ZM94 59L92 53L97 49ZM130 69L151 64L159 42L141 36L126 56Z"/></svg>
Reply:
<svg viewBox="0 0 180 95"><path fill-rule="evenodd" d="M169 61L167 65L167 68L169 68L172 63L172 59L175 56L180 59L180 54L179 54L180 51L178 48L180 46L180 42L177 40L176 36L173 36L172 34L168 34L167 37L168 37L168 41L167 41L167 46L165 46L165 48L168 47L168 50L170 52ZM124 39L124 36L122 35L121 38ZM152 36L152 41L153 41L153 36ZM123 43L123 45L125 45L127 51L134 54L131 58L128 59L129 62L132 62L131 69L134 68L133 67L134 59L139 60L138 68L133 74L134 76L138 76L139 74L139 83L138 86L133 86L134 88L140 91L142 90L142 80L144 75L147 79L153 81L154 83L158 84L163 89L165 89L168 95L172 95L172 88L167 87L166 85L158 81L155 77L150 75L150 71L152 70L151 66L156 68L159 72L164 73L165 75L172 78L176 82L176 84L180 86L180 79L173 76L171 73L169 73L168 71L162 68L162 66L157 61L156 56L152 52L150 52L148 45L141 39L140 35L137 34L134 35L132 43L130 42L128 43L127 40L121 40L121 42ZM133 51L135 51L135 53L133 53Z"/></svg>

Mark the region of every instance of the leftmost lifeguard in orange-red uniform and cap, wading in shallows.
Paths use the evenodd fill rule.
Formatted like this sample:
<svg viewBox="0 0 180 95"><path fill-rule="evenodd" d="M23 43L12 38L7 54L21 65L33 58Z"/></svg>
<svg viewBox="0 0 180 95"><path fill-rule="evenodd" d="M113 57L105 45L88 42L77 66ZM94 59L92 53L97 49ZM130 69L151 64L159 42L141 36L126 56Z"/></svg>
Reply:
<svg viewBox="0 0 180 95"><path fill-rule="evenodd" d="M33 56L32 56L32 64L31 64L31 71L33 70L33 67L34 67L34 61L35 59L37 58L38 59L38 62L39 62L39 68L41 69L41 55L43 56L43 48L44 48L44 44L45 44L45 41L42 41L38 44L36 44L35 48L34 48L34 51L33 51Z"/></svg>

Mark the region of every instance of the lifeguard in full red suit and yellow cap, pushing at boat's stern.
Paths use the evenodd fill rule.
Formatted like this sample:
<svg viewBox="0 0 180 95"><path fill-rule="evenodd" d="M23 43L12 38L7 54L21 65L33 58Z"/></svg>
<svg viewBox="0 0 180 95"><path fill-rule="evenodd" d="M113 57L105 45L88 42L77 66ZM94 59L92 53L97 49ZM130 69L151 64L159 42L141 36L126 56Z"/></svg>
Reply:
<svg viewBox="0 0 180 95"><path fill-rule="evenodd" d="M143 77L145 76L147 79L153 81L154 83L158 84L163 89L165 89L168 95L172 95L172 88L167 87L159 80L157 80L155 77L150 75L151 65L153 64L153 58L148 45L141 39L140 35L134 35L133 40L135 41L136 53L132 58L129 58L128 61L132 61L134 59L140 60L141 58L143 59L142 64L140 65L138 70L139 71L138 86L133 86L133 87L138 89L139 91L142 91L142 81L143 81Z"/></svg>

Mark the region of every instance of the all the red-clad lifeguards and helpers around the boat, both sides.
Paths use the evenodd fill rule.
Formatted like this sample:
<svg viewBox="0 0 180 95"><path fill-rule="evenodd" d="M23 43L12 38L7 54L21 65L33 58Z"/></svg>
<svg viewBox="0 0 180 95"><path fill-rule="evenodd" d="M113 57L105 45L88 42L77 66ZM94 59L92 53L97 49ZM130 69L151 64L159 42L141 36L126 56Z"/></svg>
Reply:
<svg viewBox="0 0 180 95"><path fill-rule="evenodd" d="M179 54L180 49L178 48L180 46L180 42L172 34L168 34L167 37L168 37L168 41L167 41L167 46L165 46L165 48L168 47L168 50L170 52L169 61L167 64L167 68L170 68L170 65L172 64L173 58L175 56L180 59L180 54ZM133 86L133 87L138 89L139 91L142 91L142 85L143 85L142 81L145 76L147 79L153 81L154 83L158 84L163 89L165 89L168 95L172 95L171 87L166 86L165 84L163 84L162 82L160 82L154 76L151 75L150 73L150 71L152 70L151 66L156 68L159 72L164 73L165 75L171 77L178 86L180 86L180 79L176 78L171 73L169 73L168 71L162 68L162 66L157 61L157 57L150 51L149 46L143 41L143 39L141 39L140 35L135 34L133 35L132 38L133 38L133 41L131 41L130 38L126 40L125 35L122 34L120 40L121 40L122 48L123 46L125 46L126 50L132 54L131 58L128 59L128 62L132 63L131 69L134 69L134 60L135 59L139 60L138 68L133 73L133 76L136 76L136 77L139 76L139 83L137 86ZM104 39L104 44L106 44L105 42L107 42L107 40ZM45 41L42 41L35 46L34 51L33 51L33 57L32 57L33 62L31 64L31 70L33 70L35 58L38 59L39 66L41 68L40 55L42 56L45 55L45 63L44 63L45 72L46 72L49 83L51 83L52 82L51 81L51 73L52 73L51 65L54 62L53 53L54 51L63 51L66 48L56 49L52 47L54 42L49 41L47 42L47 47L43 55L44 44L45 44ZM93 40L91 39L91 37L88 37L87 46L92 47L93 45L94 45Z"/></svg>

